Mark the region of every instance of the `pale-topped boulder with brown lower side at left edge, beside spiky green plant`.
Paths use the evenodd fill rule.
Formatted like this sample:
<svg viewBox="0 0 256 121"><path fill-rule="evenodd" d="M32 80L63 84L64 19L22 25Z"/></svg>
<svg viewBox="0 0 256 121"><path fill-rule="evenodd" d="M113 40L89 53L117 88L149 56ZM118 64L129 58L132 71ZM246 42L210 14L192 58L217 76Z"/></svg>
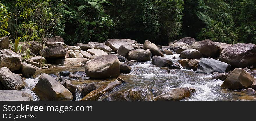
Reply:
<svg viewBox="0 0 256 121"><path fill-rule="evenodd" d="M7 67L11 71L19 70L21 66L21 56L12 50L0 50L0 68Z"/></svg>

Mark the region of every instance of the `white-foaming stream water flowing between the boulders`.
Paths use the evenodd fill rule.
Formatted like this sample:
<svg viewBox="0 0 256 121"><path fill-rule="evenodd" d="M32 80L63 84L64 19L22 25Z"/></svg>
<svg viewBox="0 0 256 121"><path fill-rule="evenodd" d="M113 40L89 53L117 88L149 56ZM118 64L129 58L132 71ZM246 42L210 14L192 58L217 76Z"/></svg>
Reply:
<svg viewBox="0 0 256 121"><path fill-rule="evenodd" d="M179 60L179 54L165 55L175 63ZM191 97L184 100L256 100L256 94L247 92L246 90L233 91L220 88L223 83L221 80L211 80L211 74L195 73L193 70L166 70L156 68L148 62L137 62L131 66L132 71L129 74L121 74L126 83L116 86L112 91L105 93L99 100L116 100L115 96L127 91L137 92L139 100L152 100L155 96L170 91L177 87L192 87L196 90ZM71 80L72 84L77 86L76 100L80 100L81 87L84 84L94 82L97 87L106 85L114 79L95 80L90 79L84 73L84 67L58 67L50 68L49 70L38 70L33 77L35 79L24 80L27 84L25 91L33 95L33 100L38 100L38 97L30 91L38 82L38 76L42 73L50 74L58 81L58 73L60 71L79 72L82 75L81 79ZM125 96L129 93L125 93ZM129 100L129 99L128 99Z"/></svg>

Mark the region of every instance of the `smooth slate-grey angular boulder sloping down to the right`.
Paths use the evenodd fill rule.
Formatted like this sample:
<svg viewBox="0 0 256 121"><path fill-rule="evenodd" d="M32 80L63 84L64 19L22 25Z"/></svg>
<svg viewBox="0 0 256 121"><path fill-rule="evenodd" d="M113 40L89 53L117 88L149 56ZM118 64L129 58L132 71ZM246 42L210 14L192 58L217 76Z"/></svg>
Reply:
<svg viewBox="0 0 256 121"><path fill-rule="evenodd" d="M208 58L202 58L199 62L197 73L213 73L213 72L228 72L230 70L230 64Z"/></svg>

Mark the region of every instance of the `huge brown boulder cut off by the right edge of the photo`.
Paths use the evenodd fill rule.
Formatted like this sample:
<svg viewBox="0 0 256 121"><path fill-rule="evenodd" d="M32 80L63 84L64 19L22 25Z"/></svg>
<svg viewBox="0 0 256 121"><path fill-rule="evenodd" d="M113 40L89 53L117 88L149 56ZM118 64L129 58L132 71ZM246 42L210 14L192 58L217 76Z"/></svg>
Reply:
<svg viewBox="0 0 256 121"><path fill-rule="evenodd" d="M256 45L238 43L229 46L221 52L220 61L230 64L232 68L256 66Z"/></svg>

